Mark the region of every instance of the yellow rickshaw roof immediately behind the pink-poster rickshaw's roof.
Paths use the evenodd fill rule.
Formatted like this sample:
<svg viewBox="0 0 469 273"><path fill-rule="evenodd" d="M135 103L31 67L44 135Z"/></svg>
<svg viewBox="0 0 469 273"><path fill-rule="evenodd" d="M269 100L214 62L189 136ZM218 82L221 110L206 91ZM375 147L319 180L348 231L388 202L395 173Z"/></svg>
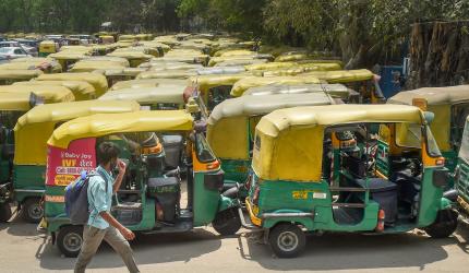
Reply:
<svg viewBox="0 0 469 273"><path fill-rule="evenodd" d="M99 100L135 100L152 110L183 109L185 85L158 85L155 87L122 88L109 91Z"/></svg>

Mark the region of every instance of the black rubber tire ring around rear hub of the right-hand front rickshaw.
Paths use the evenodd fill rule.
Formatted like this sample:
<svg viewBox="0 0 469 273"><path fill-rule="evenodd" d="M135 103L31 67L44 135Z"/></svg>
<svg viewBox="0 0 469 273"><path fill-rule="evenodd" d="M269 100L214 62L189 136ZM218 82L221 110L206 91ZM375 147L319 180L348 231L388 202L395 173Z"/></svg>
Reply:
<svg viewBox="0 0 469 273"><path fill-rule="evenodd" d="M298 240L297 247L288 251L282 250L281 247L278 246L279 238L285 236L285 233L294 234ZM306 236L298 225L291 223L280 223L270 228L268 234L268 242L272 251L278 258L296 258L304 251L304 247L306 246Z"/></svg>

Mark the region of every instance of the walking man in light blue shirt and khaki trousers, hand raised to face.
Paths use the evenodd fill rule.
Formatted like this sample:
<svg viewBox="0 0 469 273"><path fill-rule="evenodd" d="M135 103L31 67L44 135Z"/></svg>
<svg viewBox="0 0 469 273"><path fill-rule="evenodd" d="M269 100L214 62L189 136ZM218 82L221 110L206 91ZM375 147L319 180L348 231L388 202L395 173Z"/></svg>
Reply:
<svg viewBox="0 0 469 273"><path fill-rule="evenodd" d="M110 142L103 142L98 146L99 166L96 168L98 175L92 176L88 181L91 213L88 223L83 229L83 245L75 263L75 273L85 272L103 239L121 256L131 273L140 272L128 241L133 240L135 235L109 213L112 194L120 188L127 168L125 163L118 159L119 153L119 147ZM119 168L119 175L113 180L111 171L116 167Z"/></svg>

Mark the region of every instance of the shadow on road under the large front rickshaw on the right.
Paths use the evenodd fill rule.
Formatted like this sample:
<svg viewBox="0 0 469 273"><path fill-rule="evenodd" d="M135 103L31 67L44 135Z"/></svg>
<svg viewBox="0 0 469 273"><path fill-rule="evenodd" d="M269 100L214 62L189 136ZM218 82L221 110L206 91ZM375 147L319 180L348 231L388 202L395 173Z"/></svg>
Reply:
<svg viewBox="0 0 469 273"><path fill-rule="evenodd" d="M264 269L280 271L369 270L417 266L445 260L446 245L458 244L455 237L431 239L423 235L400 234L366 236L359 234L327 234L309 236L306 249L296 259L277 259L267 245L246 236L240 239L240 253Z"/></svg>

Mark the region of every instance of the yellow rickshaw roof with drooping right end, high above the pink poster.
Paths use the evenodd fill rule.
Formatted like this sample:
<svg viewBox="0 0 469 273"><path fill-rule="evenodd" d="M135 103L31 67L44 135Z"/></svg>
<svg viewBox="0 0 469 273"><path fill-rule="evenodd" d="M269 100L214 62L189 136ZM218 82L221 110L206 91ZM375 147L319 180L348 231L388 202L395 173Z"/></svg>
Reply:
<svg viewBox="0 0 469 273"><path fill-rule="evenodd" d="M91 72L43 74L36 81L84 81L95 87L98 97L108 91L106 76Z"/></svg>

